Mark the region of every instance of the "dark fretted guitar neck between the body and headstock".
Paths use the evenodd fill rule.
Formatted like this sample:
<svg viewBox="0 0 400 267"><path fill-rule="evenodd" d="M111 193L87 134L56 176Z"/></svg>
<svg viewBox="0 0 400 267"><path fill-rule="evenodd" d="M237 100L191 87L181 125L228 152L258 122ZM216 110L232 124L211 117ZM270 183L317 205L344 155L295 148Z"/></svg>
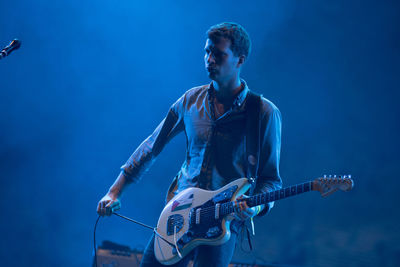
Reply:
<svg viewBox="0 0 400 267"><path fill-rule="evenodd" d="M249 207L255 207L258 205L267 204L272 201L296 196L305 192L309 192L311 190L312 190L312 181L308 181L302 184L297 184L279 190L251 196L249 198L246 198L244 201L247 202L247 205ZM227 202L222 204L220 212L221 215L223 216L234 212L233 202Z"/></svg>

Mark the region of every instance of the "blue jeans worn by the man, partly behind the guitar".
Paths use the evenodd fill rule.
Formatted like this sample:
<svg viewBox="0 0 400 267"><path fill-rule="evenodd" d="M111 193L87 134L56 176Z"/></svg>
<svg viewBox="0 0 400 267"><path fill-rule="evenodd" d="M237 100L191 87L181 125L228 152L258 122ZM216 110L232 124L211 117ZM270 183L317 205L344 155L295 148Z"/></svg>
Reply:
<svg viewBox="0 0 400 267"><path fill-rule="evenodd" d="M219 246L200 245L193 249L179 262L170 267L186 267L194 259L194 267L227 267L235 251L237 233L231 231L231 238ZM154 234L143 253L141 267L165 267L158 262L154 255Z"/></svg>

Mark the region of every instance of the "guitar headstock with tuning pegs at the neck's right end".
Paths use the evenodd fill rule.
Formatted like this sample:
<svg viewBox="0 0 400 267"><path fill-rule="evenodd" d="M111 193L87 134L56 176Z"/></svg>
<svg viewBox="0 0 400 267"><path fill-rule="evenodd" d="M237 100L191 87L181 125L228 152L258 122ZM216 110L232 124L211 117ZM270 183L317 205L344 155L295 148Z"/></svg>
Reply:
<svg viewBox="0 0 400 267"><path fill-rule="evenodd" d="M315 179L312 182L312 190L319 191L323 197L333 194L337 190L350 191L354 182L351 175L329 175Z"/></svg>

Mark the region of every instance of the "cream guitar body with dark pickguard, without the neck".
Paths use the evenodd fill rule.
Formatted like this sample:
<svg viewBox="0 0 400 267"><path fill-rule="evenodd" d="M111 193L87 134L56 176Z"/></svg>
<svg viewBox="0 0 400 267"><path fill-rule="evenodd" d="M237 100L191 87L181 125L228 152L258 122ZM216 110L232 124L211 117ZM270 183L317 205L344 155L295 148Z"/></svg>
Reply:
<svg viewBox="0 0 400 267"><path fill-rule="evenodd" d="M220 245L228 241L233 216L219 216L219 205L235 200L249 187L248 179L240 178L216 191L188 188L176 195L165 206L157 223L158 235L154 240L157 260L171 265L199 245Z"/></svg>

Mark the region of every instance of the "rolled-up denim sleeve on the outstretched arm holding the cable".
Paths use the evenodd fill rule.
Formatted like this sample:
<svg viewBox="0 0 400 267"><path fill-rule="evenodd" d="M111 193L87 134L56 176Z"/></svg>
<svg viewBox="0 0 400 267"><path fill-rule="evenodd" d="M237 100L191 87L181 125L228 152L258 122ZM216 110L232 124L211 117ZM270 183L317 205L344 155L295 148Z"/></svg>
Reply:
<svg viewBox="0 0 400 267"><path fill-rule="evenodd" d="M165 145L183 131L184 96L179 98L169 109L166 117L154 132L147 137L133 152L124 165L122 172L131 182L137 182L151 167Z"/></svg>

